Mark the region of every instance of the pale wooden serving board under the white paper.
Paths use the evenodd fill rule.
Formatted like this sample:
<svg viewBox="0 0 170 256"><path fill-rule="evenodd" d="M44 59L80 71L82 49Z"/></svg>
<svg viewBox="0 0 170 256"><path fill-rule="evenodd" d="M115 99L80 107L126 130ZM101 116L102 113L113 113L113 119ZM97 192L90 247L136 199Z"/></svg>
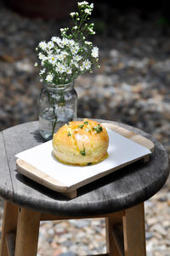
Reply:
<svg viewBox="0 0 170 256"><path fill-rule="evenodd" d="M154 151L154 144L149 140L144 138L143 136L139 134L135 134L125 128L121 128L115 124L112 123L102 123L106 128L109 128L110 130L116 132L117 134L121 134L123 137L126 137L127 139L131 139L134 142L136 142L139 145L143 145L145 148L149 149L151 152ZM84 179L81 182L78 182L75 185L65 185L64 183L60 182L57 179L54 179L48 174L44 174L40 169L35 168L30 163L25 162L24 160L21 160L18 158L16 160L16 167L17 170L20 172L20 174L24 174L26 177L33 179L34 181L37 181L37 183L40 183L41 185L44 185L48 187L49 189L53 191L59 191L60 193L64 194L65 196L69 198L74 198L77 196L77 189L81 187L82 185L87 185L88 183L99 179L106 174L111 174L112 172L116 171L117 169L123 168L127 166L128 164L135 162L141 158L144 158L144 162L149 161L150 155L146 155L144 157L140 157L138 159L134 159L130 162L125 162L122 165L119 165L116 168L111 168L108 171L105 172L105 174L100 173L98 175L94 175L90 177L89 179Z"/></svg>

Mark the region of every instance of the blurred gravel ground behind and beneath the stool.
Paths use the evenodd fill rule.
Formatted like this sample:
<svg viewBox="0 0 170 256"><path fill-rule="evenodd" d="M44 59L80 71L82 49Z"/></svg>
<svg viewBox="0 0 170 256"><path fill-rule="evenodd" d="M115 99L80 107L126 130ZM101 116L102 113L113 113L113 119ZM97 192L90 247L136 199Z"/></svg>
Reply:
<svg viewBox="0 0 170 256"><path fill-rule="evenodd" d="M120 12L97 4L99 70L78 77L78 116L125 122L156 137L170 154L170 25L159 11ZM107 15L101 10L105 9ZM143 18L144 17L144 18ZM0 2L0 130L37 120L41 83L35 48L67 20L28 19ZM108 22L109 21L109 22ZM170 255L170 183L145 202L148 256ZM3 206L1 202L0 219ZM1 220L0 220L1 221ZM95 236L95 239L94 239ZM42 222L38 256L105 253L104 219Z"/></svg>

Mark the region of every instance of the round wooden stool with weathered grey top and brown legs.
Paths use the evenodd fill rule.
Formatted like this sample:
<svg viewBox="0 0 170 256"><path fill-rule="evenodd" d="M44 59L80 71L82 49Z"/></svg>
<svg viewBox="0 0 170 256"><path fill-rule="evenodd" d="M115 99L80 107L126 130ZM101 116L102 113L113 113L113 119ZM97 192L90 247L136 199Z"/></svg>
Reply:
<svg viewBox="0 0 170 256"><path fill-rule="evenodd" d="M16 172L14 155L42 143L37 122L0 133L0 195L4 198L0 256L36 256L41 220L101 217L105 218L108 255L146 255L144 201L167 179L167 152L149 134L119 125L154 142L155 151L150 162L135 162L120 172L85 185L78 189L73 199Z"/></svg>

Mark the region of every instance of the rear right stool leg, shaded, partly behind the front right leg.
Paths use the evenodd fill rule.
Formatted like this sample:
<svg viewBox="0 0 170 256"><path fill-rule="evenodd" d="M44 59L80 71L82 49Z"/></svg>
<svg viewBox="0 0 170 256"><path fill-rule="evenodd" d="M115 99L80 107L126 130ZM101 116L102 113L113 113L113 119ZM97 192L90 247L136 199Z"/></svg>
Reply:
<svg viewBox="0 0 170 256"><path fill-rule="evenodd" d="M122 225L122 215L113 213L110 217L105 218L105 229L106 229L106 247L107 253L110 256L121 256L121 252L116 245L116 239L114 236L114 226Z"/></svg>

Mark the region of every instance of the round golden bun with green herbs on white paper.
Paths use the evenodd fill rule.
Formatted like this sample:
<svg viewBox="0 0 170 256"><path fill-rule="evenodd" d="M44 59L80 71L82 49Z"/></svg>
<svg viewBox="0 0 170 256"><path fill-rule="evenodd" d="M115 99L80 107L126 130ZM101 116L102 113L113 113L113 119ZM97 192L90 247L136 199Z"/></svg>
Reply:
<svg viewBox="0 0 170 256"><path fill-rule="evenodd" d="M99 122L83 119L59 128L53 138L54 156L76 165L100 162L107 157L109 136Z"/></svg>

